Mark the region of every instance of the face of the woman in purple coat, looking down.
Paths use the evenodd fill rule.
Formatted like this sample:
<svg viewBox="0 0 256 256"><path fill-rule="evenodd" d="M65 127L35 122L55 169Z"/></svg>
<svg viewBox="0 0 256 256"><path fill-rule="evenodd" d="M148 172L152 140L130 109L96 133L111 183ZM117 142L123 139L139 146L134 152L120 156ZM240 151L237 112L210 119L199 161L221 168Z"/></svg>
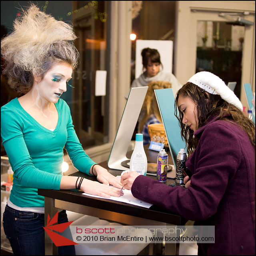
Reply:
<svg viewBox="0 0 256 256"><path fill-rule="evenodd" d="M178 107L183 113L183 124L188 124L191 130L196 131L198 126L198 117L196 111L196 105L189 97L182 95L178 98Z"/></svg>

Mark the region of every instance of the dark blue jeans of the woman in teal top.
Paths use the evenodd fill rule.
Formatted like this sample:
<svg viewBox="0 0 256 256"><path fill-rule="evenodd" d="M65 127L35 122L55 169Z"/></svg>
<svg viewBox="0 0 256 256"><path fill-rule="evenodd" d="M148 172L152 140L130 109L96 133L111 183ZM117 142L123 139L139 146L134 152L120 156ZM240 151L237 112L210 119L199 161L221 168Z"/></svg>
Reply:
<svg viewBox="0 0 256 256"><path fill-rule="evenodd" d="M58 213L58 224L64 222L68 222L65 210ZM19 211L6 205L3 227L14 255L45 255L43 226L44 214ZM74 245L59 246L58 254L76 255Z"/></svg>

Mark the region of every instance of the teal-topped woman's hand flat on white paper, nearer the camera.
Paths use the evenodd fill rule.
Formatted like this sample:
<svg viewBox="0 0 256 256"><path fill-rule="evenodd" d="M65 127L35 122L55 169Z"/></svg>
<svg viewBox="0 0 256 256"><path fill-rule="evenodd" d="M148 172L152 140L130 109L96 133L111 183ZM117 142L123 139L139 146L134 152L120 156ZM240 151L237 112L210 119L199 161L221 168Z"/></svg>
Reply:
<svg viewBox="0 0 256 256"><path fill-rule="evenodd" d="M114 188L113 186L108 186L106 184L101 184L97 181L87 180L84 178L80 189L88 194L103 196L110 198L110 196L123 196L124 193L120 188Z"/></svg>

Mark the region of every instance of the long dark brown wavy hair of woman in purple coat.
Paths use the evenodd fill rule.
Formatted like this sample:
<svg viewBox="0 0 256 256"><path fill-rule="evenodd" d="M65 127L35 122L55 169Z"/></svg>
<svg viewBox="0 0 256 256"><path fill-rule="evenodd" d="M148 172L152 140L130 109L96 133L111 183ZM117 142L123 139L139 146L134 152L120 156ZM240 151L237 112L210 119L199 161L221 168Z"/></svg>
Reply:
<svg viewBox="0 0 256 256"><path fill-rule="evenodd" d="M191 82L187 82L178 90L175 99L175 116L178 118L181 128L181 136L185 140L190 156L198 145L198 138L194 136L194 131L187 124L183 124L183 113L178 108L179 96L189 97L196 105L195 110L198 115L197 127L202 127L207 123L212 115L216 115L216 120L226 120L238 125L244 130L255 147L255 125L239 108L223 100L220 95L210 94ZM227 115L228 114L228 115Z"/></svg>

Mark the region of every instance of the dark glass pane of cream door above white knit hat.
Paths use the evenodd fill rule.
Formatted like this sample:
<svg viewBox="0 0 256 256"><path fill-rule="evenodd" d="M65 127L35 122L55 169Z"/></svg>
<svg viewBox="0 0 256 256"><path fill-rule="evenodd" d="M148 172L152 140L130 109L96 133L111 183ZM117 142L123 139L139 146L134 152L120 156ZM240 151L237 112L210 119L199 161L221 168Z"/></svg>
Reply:
<svg viewBox="0 0 256 256"><path fill-rule="evenodd" d="M209 71L228 84L237 82L234 93L240 98L244 26L228 22L197 22L196 72Z"/></svg>

